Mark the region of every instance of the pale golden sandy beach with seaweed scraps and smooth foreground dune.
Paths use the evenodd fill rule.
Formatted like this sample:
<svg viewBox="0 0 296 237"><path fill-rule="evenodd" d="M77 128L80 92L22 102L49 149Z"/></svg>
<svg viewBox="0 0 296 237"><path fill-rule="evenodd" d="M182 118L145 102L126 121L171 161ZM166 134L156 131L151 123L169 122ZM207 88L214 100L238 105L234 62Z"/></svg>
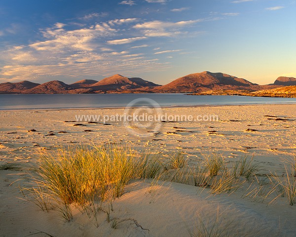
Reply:
<svg viewBox="0 0 296 237"><path fill-rule="evenodd" d="M163 157L181 152L188 163L212 153L220 154L229 164L247 156L262 166L261 176L270 172L284 175L283 159L295 154L296 105L162 110L168 115L218 115L219 120L160 122L158 131L137 136L120 121L75 121L75 115L115 115L124 109L0 111L0 162L21 165L18 171L0 170L0 236L44 232L56 237L189 237L200 218L213 223L217 216L228 223L233 234L229 236L295 236L296 206L289 205L285 197L268 204L239 191L213 195L208 189L186 184L160 182L151 188L151 180L136 181L114 200L111 217L121 220L116 229L104 213L98 217L99 227L78 210L74 220L66 223L58 213L41 211L22 199L20 186L28 182L30 167L40 154L75 145L128 144Z"/></svg>

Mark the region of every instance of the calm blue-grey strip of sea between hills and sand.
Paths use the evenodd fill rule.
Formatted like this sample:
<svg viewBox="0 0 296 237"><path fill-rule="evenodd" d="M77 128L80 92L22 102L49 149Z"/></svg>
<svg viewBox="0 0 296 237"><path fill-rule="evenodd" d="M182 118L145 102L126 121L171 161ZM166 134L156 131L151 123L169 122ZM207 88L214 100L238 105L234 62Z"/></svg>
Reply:
<svg viewBox="0 0 296 237"><path fill-rule="evenodd" d="M125 107L137 98L148 98L160 106L296 104L296 98L250 96L192 96L185 94L54 94L0 95L0 110L78 109ZM141 104L143 101L143 104ZM141 100L137 106L147 105Z"/></svg>

